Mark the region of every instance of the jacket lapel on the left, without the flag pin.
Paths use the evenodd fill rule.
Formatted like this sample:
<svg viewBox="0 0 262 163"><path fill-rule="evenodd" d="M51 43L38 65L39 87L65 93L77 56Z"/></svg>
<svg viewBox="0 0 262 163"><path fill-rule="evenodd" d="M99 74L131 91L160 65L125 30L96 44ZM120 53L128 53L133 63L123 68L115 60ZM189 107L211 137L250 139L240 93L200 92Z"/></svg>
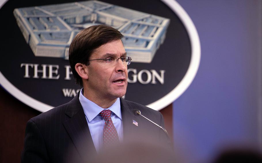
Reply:
<svg viewBox="0 0 262 163"><path fill-rule="evenodd" d="M79 92L75 98L68 103L65 114L71 118L64 121L63 125L81 158L87 160L90 154L96 154L96 149L86 122L85 113L79 102Z"/></svg>

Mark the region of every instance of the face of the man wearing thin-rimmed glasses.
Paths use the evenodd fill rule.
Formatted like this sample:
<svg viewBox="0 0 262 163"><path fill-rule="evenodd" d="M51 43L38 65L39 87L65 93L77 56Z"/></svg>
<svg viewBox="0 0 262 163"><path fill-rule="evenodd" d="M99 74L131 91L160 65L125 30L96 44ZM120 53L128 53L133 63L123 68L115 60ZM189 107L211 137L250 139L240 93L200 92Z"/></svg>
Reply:
<svg viewBox="0 0 262 163"><path fill-rule="evenodd" d="M126 57L121 40L108 42L96 48L90 56L92 59L105 59L110 56ZM127 65L121 59L113 64L105 60L89 61L87 91L88 96L113 100L126 94Z"/></svg>

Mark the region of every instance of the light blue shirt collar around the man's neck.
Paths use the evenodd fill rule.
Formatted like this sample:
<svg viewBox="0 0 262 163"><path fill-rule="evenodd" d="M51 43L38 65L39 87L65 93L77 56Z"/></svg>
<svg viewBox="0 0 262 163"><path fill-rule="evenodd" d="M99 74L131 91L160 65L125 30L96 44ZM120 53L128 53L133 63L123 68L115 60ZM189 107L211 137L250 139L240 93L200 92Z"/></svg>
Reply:
<svg viewBox="0 0 262 163"><path fill-rule="evenodd" d="M101 108L96 103L88 100L83 95L83 88L80 91L79 101L83 107L84 113L89 122L92 121L102 110L104 110L104 108ZM117 117L119 117L122 120L121 109L120 109L120 98L117 98L115 103L113 103L109 108L106 109L111 110Z"/></svg>

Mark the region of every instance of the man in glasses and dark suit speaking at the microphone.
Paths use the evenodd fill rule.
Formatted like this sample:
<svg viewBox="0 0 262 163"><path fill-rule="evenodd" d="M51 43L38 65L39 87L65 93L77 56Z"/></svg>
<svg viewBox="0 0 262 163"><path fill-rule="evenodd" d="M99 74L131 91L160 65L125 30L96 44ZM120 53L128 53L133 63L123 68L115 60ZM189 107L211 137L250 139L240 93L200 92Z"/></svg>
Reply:
<svg viewBox="0 0 262 163"><path fill-rule="evenodd" d="M124 100L127 56L123 35L106 26L79 32L69 48L69 62L80 92L63 104L30 119L22 162L87 162L119 142L166 141L161 129L134 114L134 109L164 126L160 112Z"/></svg>

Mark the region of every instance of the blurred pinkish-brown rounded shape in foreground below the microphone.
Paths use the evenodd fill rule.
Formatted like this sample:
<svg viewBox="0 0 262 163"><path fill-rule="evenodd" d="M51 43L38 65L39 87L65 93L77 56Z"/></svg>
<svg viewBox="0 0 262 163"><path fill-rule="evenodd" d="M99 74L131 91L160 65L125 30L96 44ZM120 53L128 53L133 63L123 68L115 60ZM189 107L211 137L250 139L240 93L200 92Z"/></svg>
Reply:
<svg viewBox="0 0 262 163"><path fill-rule="evenodd" d="M100 152L92 163L175 163L182 162L170 148L159 143L129 142Z"/></svg>

